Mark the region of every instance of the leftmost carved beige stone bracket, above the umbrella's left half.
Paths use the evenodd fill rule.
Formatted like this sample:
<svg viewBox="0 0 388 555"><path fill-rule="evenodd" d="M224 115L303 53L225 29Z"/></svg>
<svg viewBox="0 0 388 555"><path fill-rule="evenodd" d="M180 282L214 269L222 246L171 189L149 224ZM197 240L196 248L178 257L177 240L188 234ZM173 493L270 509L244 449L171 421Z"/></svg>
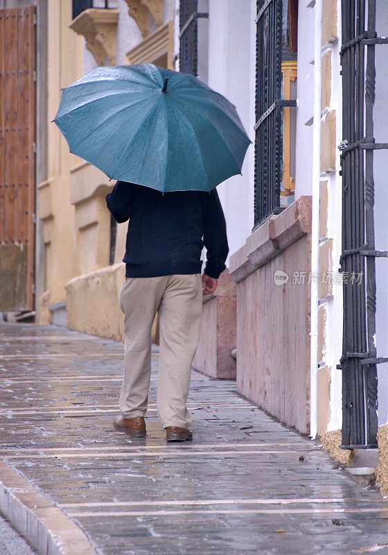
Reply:
<svg viewBox="0 0 388 555"><path fill-rule="evenodd" d="M116 65L118 10L89 8L73 19L70 28L83 35L98 65Z"/></svg>

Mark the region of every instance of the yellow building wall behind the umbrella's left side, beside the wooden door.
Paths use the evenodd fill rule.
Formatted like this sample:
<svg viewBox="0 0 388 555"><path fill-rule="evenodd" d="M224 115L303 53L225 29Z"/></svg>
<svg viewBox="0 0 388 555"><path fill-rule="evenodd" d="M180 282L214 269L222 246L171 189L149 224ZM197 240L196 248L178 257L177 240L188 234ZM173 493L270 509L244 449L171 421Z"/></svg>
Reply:
<svg viewBox="0 0 388 555"><path fill-rule="evenodd" d="M146 28L145 19L130 17L131 8L132 0L125 0L118 8L86 10L72 20L71 0L48 2L48 178L39 183L37 198L45 255L44 267L38 268L44 275L44 293L37 302L39 323L51 323L53 311L66 311L71 329L114 339L122 339L118 292L125 275L121 260L127 223L117 225L114 266L109 266L111 216L105 195L114 181L69 153L51 121L61 89L89 71L93 58L96 65L135 60L173 67L173 1L152 0L144 7L149 16ZM155 14L160 16L157 20ZM85 58L87 51L93 58L89 53Z"/></svg>

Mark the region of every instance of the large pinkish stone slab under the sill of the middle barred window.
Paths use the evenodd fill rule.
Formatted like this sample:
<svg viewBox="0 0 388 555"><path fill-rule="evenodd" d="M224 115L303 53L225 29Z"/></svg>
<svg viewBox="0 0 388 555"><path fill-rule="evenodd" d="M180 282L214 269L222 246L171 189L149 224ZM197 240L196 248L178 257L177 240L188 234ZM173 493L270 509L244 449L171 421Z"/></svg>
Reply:
<svg viewBox="0 0 388 555"><path fill-rule="evenodd" d="M305 234L237 286L238 392L302 434L310 422L310 285L292 277L308 275L310 252ZM289 280L276 285L276 271Z"/></svg>

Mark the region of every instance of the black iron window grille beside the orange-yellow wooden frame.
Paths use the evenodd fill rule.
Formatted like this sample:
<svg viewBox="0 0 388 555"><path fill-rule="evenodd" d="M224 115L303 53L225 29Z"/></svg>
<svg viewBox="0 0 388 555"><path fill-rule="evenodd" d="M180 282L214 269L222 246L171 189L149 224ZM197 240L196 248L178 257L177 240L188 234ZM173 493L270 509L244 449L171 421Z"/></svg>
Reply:
<svg viewBox="0 0 388 555"><path fill-rule="evenodd" d="M281 212L281 110L297 105L281 99L282 9L282 0L256 2L254 229Z"/></svg>

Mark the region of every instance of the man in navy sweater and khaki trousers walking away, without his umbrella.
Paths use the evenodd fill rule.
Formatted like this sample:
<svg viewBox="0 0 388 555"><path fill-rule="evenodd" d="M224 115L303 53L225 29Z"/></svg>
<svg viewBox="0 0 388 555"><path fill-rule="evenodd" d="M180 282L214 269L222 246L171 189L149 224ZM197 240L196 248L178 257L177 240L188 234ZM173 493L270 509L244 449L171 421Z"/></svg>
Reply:
<svg viewBox="0 0 388 555"><path fill-rule="evenodd" d="M167 441L191 440L186 408L191 364L200 339L202 294L209 295L229 252L218 193L159 191L118 181L107 195L118 223L130 219L125 246L125 369L114 428L145 436L151 373L151 329L159 314L157 409ZM206 266L201 276L202 248Z"/></svg>

